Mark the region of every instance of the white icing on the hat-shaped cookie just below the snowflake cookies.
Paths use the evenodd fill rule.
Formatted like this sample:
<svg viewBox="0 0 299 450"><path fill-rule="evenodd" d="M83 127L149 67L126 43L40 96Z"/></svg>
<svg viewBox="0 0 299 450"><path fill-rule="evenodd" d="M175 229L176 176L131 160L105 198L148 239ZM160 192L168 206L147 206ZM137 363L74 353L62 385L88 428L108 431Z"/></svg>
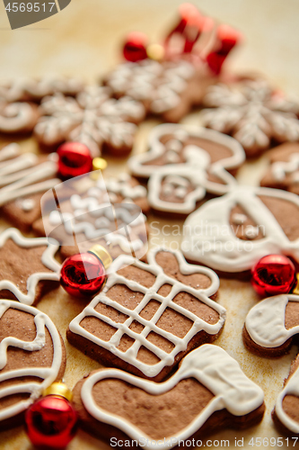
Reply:
<svg viewBox="0 0 299 450"><path fill-rule="evenodd" d="M174 138L163 145L161 139L169 134ZM207 139L222 145L229 148L232 155L212 164L210 156L204 148L196 145L188 145L183 148L184 141L189 137ZM178 211L188 214L194 211L197 202L203 199L207 192L216 195L229 192L232 186L236 185L236 180L228 170L241 166L245 160L244 151L235 139L198 126L158 125L150 134L149 148L148 152L131 157L128 165L134 175L149 177L148 200L151 206L159 211ZM185 162L180 162L178 152L181 152L181 148L183 148L182 155ZM151 161L163 156L168 160L166 165L151 165ZM223 184L209 181L207 172L215 175ZM167 199L161 199L161 193L167 193L163 191L162 184L165 182L165 178L169 178L171 175L175 176L176 183L179 183L179 179L180 183L188 180L190 192L181 190L178 195L178 198L184 199L183 202L168 202ZM171 186L168 193L172 193Z"/></svg>

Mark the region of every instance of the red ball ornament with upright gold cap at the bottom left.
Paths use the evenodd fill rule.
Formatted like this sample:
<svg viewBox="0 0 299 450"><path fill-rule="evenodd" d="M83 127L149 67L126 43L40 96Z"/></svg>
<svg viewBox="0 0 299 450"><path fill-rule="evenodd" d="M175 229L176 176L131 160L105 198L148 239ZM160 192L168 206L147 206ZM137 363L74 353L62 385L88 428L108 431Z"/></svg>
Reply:
<svg viewBox="0 0 299 450"><path fill-rule="evenodd" d="M33 446L63 449L75 437L77 414L66 384L53 383L25 414L25 429Z"/></svg>

